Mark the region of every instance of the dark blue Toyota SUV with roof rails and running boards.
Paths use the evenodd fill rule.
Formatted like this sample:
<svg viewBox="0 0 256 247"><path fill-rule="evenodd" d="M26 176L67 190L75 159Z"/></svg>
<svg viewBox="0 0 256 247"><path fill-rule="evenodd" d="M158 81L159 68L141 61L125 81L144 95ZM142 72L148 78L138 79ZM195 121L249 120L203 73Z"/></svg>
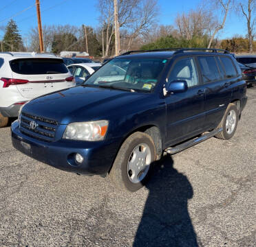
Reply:
<svg viewBox="0 0 256 247"><path fill-rule="evenodd" d="M127 71L116 80L120 64ZM112 71L113 80L98 80ZM163 152L233 137L246 100L246 82L228 51L131 51L83 86L25 104L12 144L48 165L109 174L118 189L136 191Z"/></svg>

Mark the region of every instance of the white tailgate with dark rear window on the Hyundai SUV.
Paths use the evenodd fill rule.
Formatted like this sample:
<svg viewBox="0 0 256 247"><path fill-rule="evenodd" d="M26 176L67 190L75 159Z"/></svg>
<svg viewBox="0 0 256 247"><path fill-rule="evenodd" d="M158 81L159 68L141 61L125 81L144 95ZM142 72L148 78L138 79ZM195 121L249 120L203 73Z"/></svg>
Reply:
<svg viewBox="0 0 256 247"><path fill-rule="evenodd" d="M74 86L71 73L58 58L17 58L10 61L12 78L28 80L17 84L23 97L34 98Z"/></svg>

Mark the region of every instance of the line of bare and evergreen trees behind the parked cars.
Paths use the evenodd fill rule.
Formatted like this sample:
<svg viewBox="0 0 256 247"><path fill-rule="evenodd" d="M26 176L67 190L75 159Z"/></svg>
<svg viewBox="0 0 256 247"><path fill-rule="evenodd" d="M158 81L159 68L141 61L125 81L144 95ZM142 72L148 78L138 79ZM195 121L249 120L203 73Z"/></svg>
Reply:
<svg viewBox="0 0 256 247"><path fill-rule="evenodd" d="M43 25L45 51L88 51L92 56L114 55L114 1L97 0L100 13L98 27ZM244 18L247 35L219 40L229 14L235 11ZM178 13L173 25L159 25L158 0L118 0L120 49L160 49L175 47L215 47L240 52L256 49L256 0L204 1L193 10ZM39 51L37 27L31 28L22 40L15 21L6 25L1 51Z"/></svg>

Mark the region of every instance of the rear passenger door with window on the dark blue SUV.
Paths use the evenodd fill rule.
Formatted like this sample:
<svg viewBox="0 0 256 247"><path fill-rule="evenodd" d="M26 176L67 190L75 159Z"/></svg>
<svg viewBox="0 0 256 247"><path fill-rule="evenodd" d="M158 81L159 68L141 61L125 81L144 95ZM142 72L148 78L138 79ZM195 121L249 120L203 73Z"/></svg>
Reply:
<svg viewBox="0 0 256 247"><path fill-rule="evenodd" d="M226 77L218 56L198 56L198 62L206 93L204 130L209 130L220 124L226 107L231 101L232 80Z"/></svg>

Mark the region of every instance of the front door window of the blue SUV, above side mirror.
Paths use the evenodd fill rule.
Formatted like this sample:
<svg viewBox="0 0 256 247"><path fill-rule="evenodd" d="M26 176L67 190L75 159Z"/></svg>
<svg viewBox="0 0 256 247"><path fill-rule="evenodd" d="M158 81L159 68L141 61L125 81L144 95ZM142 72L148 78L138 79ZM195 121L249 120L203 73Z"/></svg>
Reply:
<svg viewBox="0 0 256 247"><path fill-rule="evenodd" d="M185 80L189 87L199 84L198 71L193 58L182 58L173 66L168 81Z"/></svg>

